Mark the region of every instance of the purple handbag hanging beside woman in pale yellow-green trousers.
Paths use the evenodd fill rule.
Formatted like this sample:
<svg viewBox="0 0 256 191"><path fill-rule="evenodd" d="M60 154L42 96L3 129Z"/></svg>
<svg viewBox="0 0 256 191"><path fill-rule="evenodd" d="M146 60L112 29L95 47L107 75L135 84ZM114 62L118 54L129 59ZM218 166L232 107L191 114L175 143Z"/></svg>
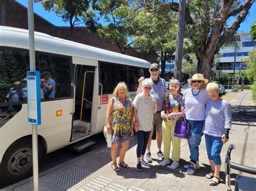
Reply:
<svg viewBox="0 0 256 191"><path fill-rule="evenodd" d="M186 117L181 112L183 121L177 120L173 136L188 139L190 137L190 124L186 121Z"/></svg>

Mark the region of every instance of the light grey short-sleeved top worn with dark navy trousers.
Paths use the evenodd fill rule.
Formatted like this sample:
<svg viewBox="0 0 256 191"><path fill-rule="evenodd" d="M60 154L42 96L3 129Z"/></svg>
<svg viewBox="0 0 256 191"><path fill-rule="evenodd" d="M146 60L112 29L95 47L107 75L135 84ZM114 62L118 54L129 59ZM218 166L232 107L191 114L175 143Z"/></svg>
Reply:
<svg viewBox="0 0 256 191"><path fill-rule="evenodd" d="M133 105L137 109L139 131L151 131L153 123L154 104L153 100L156 100L152 94L146 100L144 93L138 94L134 100Z"/></svg>

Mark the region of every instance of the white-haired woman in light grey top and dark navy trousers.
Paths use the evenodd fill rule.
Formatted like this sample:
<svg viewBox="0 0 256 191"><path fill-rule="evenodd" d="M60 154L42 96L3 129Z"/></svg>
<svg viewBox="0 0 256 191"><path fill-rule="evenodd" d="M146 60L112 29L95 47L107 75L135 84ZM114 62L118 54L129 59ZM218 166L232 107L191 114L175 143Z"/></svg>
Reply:
<svg viewBox="0 0 256 191"><path fill-rule="evenodd" d="M138 94L133 101L134 105L134 129L137 132L137 171L142 171L142 165L149 167L145 162L144 154L146 152L147 143L149 141L152 129L153 114L157 112L156 98L150 94L153 81L145 79L142 82L142 93Z"/></svg>

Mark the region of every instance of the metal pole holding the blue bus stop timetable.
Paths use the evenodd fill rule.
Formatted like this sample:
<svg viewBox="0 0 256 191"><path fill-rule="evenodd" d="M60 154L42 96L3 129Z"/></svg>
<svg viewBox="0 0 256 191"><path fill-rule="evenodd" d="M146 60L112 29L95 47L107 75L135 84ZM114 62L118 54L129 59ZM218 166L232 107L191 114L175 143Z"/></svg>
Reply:
<svg viewBox="0 0 256 191"><path fill-rule="evenodd" d="M28 24L29 24L30 70L36 70L34 15L33 15L33 1L32 0L28 0ZM33 185L34 185L34 191L38 191L37 125L32 125L32 155L33 155Z"/></svg>

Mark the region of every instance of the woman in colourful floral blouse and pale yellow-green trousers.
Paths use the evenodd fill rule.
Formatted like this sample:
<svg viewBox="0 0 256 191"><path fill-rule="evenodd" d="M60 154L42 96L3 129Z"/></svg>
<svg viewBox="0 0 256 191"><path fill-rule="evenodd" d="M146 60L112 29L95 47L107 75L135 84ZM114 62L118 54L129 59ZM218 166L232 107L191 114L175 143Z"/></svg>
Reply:
<svg viewBox="0 0 256 191"><path fill-rule="evenodd" d="M163 118L163 140L164 140L164 160L159 165L165 166L170 164L170 149L172 143L172 164L170 169L176 169L179 166L180 159L180 138L174 137L173 132L177 120L185 116L185 100L184 97L178 93L180 83L173 79L169 82L169 89L171 94L167 96L164 102L163 111L161 111L161 118ZM182 115L183 113L183 115Z"/></svg>

